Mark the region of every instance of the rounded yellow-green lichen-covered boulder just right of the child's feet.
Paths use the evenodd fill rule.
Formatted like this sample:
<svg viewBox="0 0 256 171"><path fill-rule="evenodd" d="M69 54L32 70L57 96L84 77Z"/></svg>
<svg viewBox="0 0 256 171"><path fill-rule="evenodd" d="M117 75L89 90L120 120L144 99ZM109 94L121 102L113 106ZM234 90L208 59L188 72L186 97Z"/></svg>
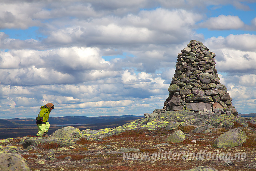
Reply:
<svg viewBox="0 0 256 171"><path fill-rule="evenodd" d="M49 136L49 138L52 137L58 137L63 140L77 141L78 139L84 137L84 135L80 132L78 128L75 128L73 126L67 126L56 130L54 133L52 133L52 135Z"/></svg>

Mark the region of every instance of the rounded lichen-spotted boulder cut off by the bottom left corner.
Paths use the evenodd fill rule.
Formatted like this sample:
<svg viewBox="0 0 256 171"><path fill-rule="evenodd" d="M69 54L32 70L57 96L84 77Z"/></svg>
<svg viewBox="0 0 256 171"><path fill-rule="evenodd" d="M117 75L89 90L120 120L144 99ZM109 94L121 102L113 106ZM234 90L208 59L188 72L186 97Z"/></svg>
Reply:
<svg viewBox="0 0 256 171"><path fill-rule="evenodd" d="M0 170L30 171L26 159L19 154L0 152Z"/></svg>

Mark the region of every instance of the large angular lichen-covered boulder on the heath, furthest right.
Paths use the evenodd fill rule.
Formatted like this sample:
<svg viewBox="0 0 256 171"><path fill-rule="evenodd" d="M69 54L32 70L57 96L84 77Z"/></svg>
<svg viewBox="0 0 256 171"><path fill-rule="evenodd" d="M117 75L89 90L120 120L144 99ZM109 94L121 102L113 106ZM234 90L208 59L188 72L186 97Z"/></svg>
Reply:
<svg viewBox="0 0 256 171"><path fill-rule="evenodd" d="M217 148L242 146L247 138L241 128L234 128L220 135L213 146Z"/></svg>

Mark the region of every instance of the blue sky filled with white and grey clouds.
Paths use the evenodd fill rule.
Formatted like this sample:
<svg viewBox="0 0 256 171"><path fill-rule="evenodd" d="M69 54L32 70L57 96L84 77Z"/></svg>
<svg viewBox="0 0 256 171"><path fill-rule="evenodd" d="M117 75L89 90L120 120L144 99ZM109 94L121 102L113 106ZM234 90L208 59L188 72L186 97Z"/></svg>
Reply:
<svg viewBox="0 0 256 171"><path fill-rule="evenodd" d="M190 40L216 54L237 111L256 112L255 0L0 2L0 119L162 109Z"/></svg>

